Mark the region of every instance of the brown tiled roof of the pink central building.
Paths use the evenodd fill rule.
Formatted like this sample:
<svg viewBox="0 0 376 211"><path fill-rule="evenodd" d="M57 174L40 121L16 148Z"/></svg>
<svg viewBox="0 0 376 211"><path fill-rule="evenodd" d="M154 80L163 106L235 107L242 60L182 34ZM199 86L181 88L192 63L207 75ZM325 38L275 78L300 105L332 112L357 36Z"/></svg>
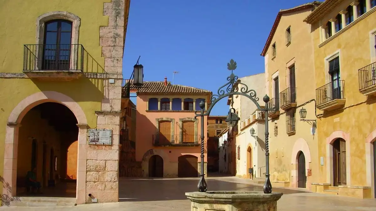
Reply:
<svg viewBox="0 0 376 211"><path fill-rule="evenodd" d="M164 81L144 81L141 87L130 87L132 90L138 90L138 94L198 94L198 95L211 95L212 92L205 89L199 89L191 86L183 86L177 84L171 84L167 82L167 86L164 85Z"/></svg>

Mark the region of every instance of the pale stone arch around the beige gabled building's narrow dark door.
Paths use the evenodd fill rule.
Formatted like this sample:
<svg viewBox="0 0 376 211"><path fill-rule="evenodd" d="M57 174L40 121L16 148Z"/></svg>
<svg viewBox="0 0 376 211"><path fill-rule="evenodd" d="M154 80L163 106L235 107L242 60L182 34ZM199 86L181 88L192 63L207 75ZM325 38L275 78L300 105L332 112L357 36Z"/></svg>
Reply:
<svg viewBox="0 0 376 211"><path fill-rule="evenodd" d="M309 150L309 146L306 140L302 138L296 140L291 153L291 164L294 165L293 170L291 170L291 175L293 176L291 183L292 187L298 187L298 165L300 153L304 154L305 174L306 176L308 176L309 163L311 163L311 151ZM306 187L309 187L309 185L306 185Z"/></svg>

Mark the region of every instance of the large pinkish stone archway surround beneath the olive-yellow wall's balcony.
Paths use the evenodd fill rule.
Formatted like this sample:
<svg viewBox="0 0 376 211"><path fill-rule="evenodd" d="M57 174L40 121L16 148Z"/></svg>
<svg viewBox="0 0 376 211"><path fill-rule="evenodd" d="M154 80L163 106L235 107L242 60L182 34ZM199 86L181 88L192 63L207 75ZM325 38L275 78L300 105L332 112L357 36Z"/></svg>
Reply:
<svg viewBox="0 0 376 211"><path fill-rule="evenodd" d="M77 102L67 95L54 91L37 92L27 96L12 110L6 125L3 198L8 200L3 200L3 203L9 203L16 196L18 131L21 126L20 122L30 109L44 102L57 102L71 110L78 122L79 144L86 145L86 115ZM77 156L79 160L85 160L85 162L78 162L77 169L81 169L78 173L82 175L77 175L77 177L86 178L86 148L79 147ZM76 193L77 203L85 203L85 188L86 181L77 180L77 190L83 190Z"/></svg>

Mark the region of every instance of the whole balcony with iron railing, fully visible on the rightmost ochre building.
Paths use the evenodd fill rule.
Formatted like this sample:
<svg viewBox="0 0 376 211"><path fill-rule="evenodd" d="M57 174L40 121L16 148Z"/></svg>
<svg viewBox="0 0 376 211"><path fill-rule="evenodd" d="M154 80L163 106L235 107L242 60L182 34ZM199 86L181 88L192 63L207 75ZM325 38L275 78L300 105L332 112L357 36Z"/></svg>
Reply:
<svg viewBox="0 0 376 211"><path fill-rule="evenodd" d="M331 111L343 107L346 98L344 80L334 80L316 89L316 107L320 110Z"/></svg>

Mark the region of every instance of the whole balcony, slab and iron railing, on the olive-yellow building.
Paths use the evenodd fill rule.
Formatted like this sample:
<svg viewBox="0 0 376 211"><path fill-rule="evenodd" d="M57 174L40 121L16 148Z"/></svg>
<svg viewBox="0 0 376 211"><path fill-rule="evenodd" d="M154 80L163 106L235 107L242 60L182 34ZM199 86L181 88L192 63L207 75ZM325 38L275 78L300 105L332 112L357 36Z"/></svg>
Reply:
<svg viewBox="0 0 376 211"><path fill-rule="evenodd" d="M23 72L30 78L79 78L84 50L80 44L24 45Z"/></svg>

